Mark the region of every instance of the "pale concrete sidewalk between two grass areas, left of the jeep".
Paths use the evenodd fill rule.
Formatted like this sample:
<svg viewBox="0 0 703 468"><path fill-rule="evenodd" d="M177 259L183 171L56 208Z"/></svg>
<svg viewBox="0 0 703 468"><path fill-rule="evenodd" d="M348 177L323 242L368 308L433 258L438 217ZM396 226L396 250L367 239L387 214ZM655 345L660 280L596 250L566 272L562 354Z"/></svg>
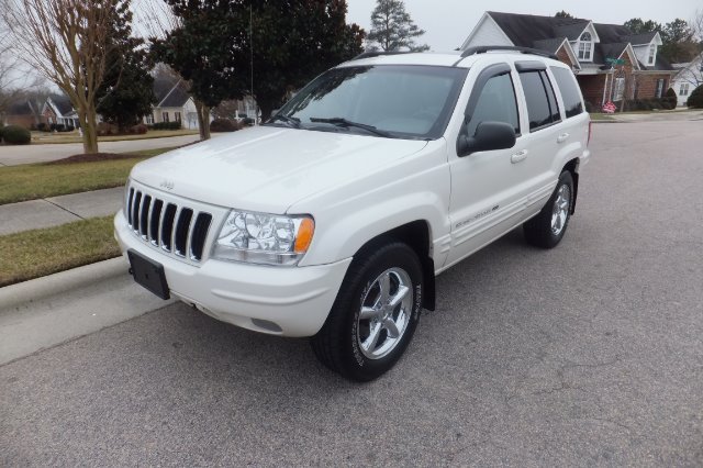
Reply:
<svg viewBox="0 0 703 468"><path fill-rule="evenodd" d="M0 205L0 235L107 216L122 208L124 188L93 190Z"/></svg>

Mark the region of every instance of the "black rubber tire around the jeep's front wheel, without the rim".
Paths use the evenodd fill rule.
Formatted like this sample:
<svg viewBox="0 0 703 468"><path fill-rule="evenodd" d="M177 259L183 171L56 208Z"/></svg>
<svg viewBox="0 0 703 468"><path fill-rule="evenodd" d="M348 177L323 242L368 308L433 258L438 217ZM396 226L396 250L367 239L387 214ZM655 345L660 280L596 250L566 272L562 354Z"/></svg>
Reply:
<svg viewBox="0 0 703 468"><path fill-rule="evenodd" d="M379 322L376 322L375 325L380 326L378 332L380 337L376 345L379 352L383 346L390 346L391 344L393 346L388 354L370 358L367 354L371 354L377 348L365 349L361 343L362 341L366 342L362 339L365 322L368 322L369 336L372 326L371 319L367 321L360 319L361 307L368 305L369 300L372 301L377 293L375 288L379 288L378 293L380 297L380 282L377 280L388 275L391 278L389 291L393 291L392 278L400 279L399 275L403 275L403 272L406 274L405 279L410 280L410 285L408 285L410 291L406 292L411 298L410 305L406 302L408 296L400 294L401 282L398 281L394 292L397 297L402 296L405 299L394 308L397 312L391 312L390 308L387 312L393 316L398 314L400 317L401 309L404 310L403 316L405 316L406 322L403 332L397 338L393 338L391 332L383 328ZM347 379L356 381L376 379L393 367L412 339L420 320L422 293L422 265L415 252L406 244L390 241L362 249L355 256L349 266L325 324L311 338L315 356L326 367ZM367 303L365 303L365 299ZM395 330L398 331L398 328ZM386 336L382 336L383 332L386 332ZM372 341L366 343L370 344L370 342Z"/></svg>

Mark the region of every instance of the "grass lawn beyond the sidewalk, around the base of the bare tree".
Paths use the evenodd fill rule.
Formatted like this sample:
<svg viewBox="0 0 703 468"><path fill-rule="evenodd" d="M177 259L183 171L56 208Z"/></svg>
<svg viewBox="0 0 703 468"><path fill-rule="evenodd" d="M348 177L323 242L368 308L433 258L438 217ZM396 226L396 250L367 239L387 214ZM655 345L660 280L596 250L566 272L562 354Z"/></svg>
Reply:
<svg viewBox="0 0 703 468"><path fill-rule="evenodd" d="M120 187L136 163L170 149L135 152L129 159L0 167L0 204Z"/></svg>

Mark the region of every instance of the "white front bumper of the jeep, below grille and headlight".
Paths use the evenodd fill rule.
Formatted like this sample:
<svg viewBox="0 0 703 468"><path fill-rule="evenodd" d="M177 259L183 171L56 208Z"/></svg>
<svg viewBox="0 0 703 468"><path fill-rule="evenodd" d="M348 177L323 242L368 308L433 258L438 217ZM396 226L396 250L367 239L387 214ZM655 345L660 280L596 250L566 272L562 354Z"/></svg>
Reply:
<svg viewBox="0 0 703 468"><path fill-rule="evenodd" d="M125 256L133 249L164 266L172 296L223 322L274 335L317 333L352 263L269 267L210 258L193 266L142 242L122 211L114 233Z"/></svg>

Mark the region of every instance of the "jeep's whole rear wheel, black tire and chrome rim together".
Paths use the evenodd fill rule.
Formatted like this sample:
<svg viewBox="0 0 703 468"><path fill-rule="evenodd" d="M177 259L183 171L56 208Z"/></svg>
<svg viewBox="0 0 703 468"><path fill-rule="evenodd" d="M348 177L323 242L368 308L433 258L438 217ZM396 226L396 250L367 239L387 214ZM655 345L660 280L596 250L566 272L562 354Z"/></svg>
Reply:
<svg viewBox="0 0 703 468"><path fill-rule="evenodd" d="M555 247L567 231L573 203L573 178L571 172L559 176L551 198L532 220L523 224L525 239L537 247Z"/></svg>

